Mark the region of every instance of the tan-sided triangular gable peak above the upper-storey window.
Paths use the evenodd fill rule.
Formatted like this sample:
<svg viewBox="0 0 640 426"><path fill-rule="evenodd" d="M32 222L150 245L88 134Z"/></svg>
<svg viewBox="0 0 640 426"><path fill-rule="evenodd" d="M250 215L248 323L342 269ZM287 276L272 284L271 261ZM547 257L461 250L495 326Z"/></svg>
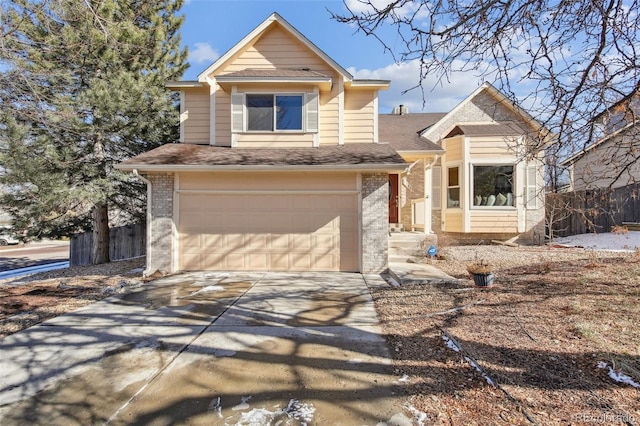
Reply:
<svg viewBox="0 0 640 426"><path fill-rule="evenodd" d="M282 45L287 43L286 55L269 57L264 56L262 52L273 51L274 45ZM333 71L343 76L346 81L353 80L353 76L337 62L331 59L320 48L307 39L302 33L296 30L284 18L277 13L273 13L253 31L245 36L240 42L233 46L229 51L222 55L218 60L211 64L207 69L198 75L198 81L206 82L207 77L211 74L217 74L223 71L237 72L242 67L242 58L252 56L254 58L263 55L265 63L270 64L273 68L293 68L297 65L300 69L300 57L308 58L312 62L309 64L320 71ZM266 53L268 55L268 53ZM238 61L240 68L230 66ZM306 65L304 66L307 67ZM249 67L250 68L250 67Z"/></svg>

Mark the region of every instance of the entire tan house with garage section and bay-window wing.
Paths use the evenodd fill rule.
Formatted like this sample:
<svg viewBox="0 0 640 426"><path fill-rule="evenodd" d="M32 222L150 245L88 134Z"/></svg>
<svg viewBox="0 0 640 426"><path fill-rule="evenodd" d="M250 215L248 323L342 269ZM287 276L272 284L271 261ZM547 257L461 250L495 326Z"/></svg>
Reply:
<svg viewBox="0 0 640 426"><path fill-rule="evenodd" d="M179 143L118 165L148 184L146 272L378 273L390 221L479 238L541 226L542 163L523 160L535 120L490 85L448 114L378 115L388 85L278 14L170 83Z"/></svg>

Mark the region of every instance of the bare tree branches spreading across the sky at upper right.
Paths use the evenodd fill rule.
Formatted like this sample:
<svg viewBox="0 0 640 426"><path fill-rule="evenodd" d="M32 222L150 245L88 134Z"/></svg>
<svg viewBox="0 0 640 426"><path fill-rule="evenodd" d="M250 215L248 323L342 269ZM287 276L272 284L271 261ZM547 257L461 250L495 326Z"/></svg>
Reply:
<svg viewBox="0 0 640 426"><path fill-rule="evenodd" d="M638 0L344 4L347 12L334 13L334 19L377 38L396 61L419 62L419 82L412 89L424 96L427 76L442 81L455 71L474 71L556 135L558 157L603 137L594 116L640 88ZM384 27L396 30L392 38L385 38ZM523 84L528 94L518 98ZM632 141L629 152L639 152L639 146L638 139ZM626 161L631 165L638 157Z"/></svg>

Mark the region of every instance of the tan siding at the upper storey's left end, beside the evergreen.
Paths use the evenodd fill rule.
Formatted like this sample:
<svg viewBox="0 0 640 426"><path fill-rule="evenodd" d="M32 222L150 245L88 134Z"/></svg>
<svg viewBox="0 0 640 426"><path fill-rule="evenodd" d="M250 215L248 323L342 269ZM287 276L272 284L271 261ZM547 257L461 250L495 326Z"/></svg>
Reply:
<svg viewBox="0 0 640 426"><path fill-rule="evenodd" d="M184 142L209 144L209 88L184 89L182 123Z"/></svg>

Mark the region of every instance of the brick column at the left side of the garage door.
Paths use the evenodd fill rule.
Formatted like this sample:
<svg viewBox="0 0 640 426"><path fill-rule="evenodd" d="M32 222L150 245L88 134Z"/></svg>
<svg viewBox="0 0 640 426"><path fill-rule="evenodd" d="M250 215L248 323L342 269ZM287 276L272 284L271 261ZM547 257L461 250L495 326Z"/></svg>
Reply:
<svg viewBox="0 0 640 426"><path fill-rule="evenodd" d="M148 215L147 270L152 274L174 272L173 252L173 173L150 173L151 199L147 200Z"/></svg>

